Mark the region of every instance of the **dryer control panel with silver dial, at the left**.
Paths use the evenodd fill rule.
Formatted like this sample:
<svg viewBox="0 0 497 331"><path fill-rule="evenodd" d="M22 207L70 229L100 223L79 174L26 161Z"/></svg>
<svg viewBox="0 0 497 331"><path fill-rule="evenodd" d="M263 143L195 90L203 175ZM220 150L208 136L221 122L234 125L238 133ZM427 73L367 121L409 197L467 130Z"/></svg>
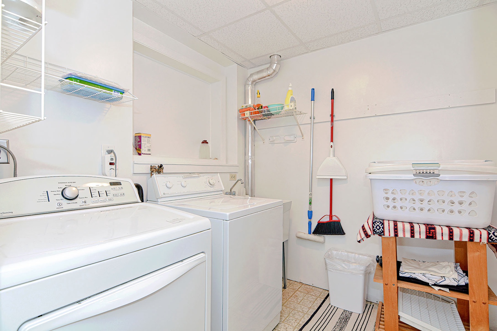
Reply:
<svg viewBox="0 0 497 331"><path fill-rule="evenodd" d="M140 202L129 179L39 176L0 180L0 218Z"/></svg>

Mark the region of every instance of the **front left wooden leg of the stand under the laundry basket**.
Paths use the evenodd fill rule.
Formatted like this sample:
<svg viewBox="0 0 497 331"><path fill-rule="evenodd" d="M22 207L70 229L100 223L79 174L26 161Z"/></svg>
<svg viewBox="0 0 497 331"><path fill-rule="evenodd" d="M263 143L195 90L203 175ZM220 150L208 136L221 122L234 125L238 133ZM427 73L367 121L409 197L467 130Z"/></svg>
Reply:
<svg viewBox="0 0 497 331"><path fill-rule="evenodd" d="M385 331L399 331L397 238L382 237L381 250L383 254L383 305L385 306Z"/></svg>

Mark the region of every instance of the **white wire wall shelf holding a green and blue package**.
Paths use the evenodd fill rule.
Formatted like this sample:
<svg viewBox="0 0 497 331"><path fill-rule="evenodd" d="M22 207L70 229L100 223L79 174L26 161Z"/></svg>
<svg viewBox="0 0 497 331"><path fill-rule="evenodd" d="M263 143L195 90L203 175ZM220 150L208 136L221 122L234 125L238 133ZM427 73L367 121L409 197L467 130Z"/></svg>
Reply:
<svg viewBox="0 0 497 331"><path fill-rule="evenodd" d="M1 84L10 84L21 89L32 91L41 88L41 61L24 55L14 54L1 65ZM129 92L124 94L107 91L98 87L88 86L76 81L62 78L70 72L77 72L63 66L45 63L45 88L68 95L78 96L109 104L120 104L137 98ZM83 76L87 74L81 73ZM94 77L94 80L103 79ZM119 86L115 82L105 81L106 85Z"/></svg>

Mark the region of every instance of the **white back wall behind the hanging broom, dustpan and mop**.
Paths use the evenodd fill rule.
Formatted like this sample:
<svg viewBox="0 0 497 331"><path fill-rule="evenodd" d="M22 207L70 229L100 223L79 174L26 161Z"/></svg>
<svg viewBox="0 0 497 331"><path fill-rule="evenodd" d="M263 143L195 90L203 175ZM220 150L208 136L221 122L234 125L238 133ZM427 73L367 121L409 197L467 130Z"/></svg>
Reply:
<svg viewBox="0 0 497 331"><path fill-rule="evenodd" d="M281 64L278 74L257 84L266 102L282 102L293 84L299 110L310 113L316 88L313 165L313 226L329 210L329 181L316 171L329 153L330 91L335 114L357 107L497 87L497 4L406 27L356 42L317 51ZM255 71L255 68L251 71ZM309 124L305 140L262 144L255 133L255 196L293 200L288 252L290 279L328 288L323 255L336 247L381 255L379 237L359 244L356 235L371 213L371 193L364 170L375 160L497 160L495 103L335 121L335 156L348 178L333 182L333 213L345 236L328 236L325 244L295 238L307 232ZM304 118L309 118L309 114ZM267 121L269 124L271 120ZM274 122L278 120L272 120ZM325 122L328 121L328 122ZM264 121L265 122L265 121ZM261 130L296 133L296 126ZM494 215L496 213L494 212ZM497 217L494 218L497 224ZM399 257L452 260L453 243L399 240ZM497 290L497 260L489 255L489 283ZM382 299L381 284L369 281L368 299ZM496 329L497 310L491 308Z"/></svg>

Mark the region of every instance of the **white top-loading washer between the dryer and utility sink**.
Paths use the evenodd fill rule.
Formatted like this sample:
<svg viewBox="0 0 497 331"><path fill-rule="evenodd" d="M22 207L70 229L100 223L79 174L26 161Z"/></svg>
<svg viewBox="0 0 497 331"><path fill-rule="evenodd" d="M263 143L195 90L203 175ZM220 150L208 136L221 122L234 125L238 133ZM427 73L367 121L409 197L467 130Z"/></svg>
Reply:
<svg viewBox="0 0 497 331"><path fill-rule="evenodd" d="M282 301L282 201L223 189L219 174L154 175L148 200L211 221L211 330L273 330Z"/></svg>

